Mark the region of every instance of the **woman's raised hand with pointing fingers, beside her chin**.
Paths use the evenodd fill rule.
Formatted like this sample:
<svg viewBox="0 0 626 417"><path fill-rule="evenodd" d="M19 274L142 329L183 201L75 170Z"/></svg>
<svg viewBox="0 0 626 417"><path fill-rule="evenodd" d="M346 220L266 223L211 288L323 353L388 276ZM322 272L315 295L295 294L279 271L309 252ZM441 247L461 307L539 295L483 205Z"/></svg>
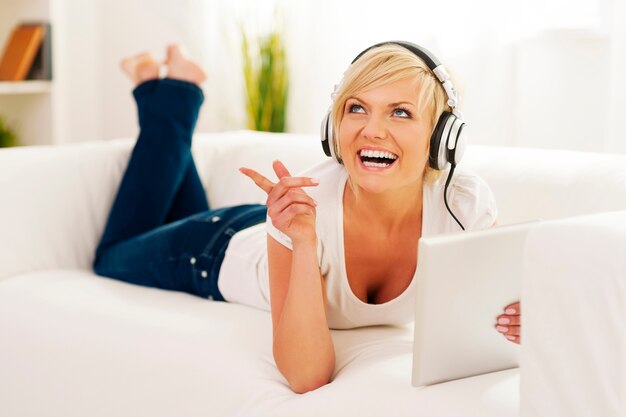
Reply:
<svg viewBox="0 0 626 417"><path fill-rule="evenodd" d="M267 193L267 213L272 224L289 236L293 243L315 240L315 207L317 203L309 197L302 187L314 187L319 182L313 178L292 177L280 161L272 164L278 182L273 183L250 168L239 171L248 176Z"/></svg>

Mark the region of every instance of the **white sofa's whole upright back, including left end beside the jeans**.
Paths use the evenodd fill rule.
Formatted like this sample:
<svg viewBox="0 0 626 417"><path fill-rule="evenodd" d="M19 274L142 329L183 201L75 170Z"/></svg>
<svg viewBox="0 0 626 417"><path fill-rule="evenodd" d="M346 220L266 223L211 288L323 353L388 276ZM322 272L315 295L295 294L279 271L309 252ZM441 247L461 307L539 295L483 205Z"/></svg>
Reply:
<svg viewBox="0 0 626 417"><path fill-rule="evenodd" d="M90 269L134 139L0 151L0 279ZM212 207L265 201L238 168L275 178L325 159L316 135L198 134L194 159ZM471 146L463 165L492 187L499 223L626 208L626 155Z"/></svg>

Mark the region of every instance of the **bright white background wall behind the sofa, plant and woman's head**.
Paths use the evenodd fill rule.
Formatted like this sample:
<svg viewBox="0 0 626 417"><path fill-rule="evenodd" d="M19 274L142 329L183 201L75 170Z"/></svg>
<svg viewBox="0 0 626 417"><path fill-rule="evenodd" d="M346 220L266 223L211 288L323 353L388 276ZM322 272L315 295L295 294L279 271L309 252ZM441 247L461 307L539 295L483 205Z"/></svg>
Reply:
<svg viewBox="0 0 626 417"><path fill-rule="evenodd" d="M68 118L71 141L136 135L130 83L118 61L142 50L163 58L170 42L187 45L209 73L198 130L245 126L238 24L266 24L272 0L66 1L72 51L66 60L73 63L66 66L67 78L76 80L66 103L68 114L84 114ZM618 126L622 112L614 111L624 103L614 85L626 91L622 25L589 29L597 26L598 10L572 6L578 12L564 27L546 30L536 10L524 8L532 1L523 7L481 2L460 2L448 15L408 0L396 0L394 7L374 0L284 3L288 129L317 133L333 86L352 58L372 43L407 39L428 46L457 75L473 143L626 152ZM546 6L546 16L559 13L556 3ZM626 16L626 10L618 12ZM505 18L493 19L493 13Z"/></svg>

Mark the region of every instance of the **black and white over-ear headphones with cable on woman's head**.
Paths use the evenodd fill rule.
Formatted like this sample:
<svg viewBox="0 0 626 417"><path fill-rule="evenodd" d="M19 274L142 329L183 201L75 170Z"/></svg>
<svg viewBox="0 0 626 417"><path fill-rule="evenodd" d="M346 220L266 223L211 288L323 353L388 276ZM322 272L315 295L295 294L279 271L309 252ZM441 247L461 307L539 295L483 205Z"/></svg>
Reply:
<svg viewBox="0 0 626 417"><path fill-rule="evenodd" d="M457 109L457 106L460 101L459 94L452 85L452 81L450 80L450 75L446 68L439 62L439 60L426 48L418 46L411 42L405 41L388 41L377 43L376 45L372 45L369 48L365 49L363 52L358 54L356 58L352 60L350 65L354 64L363 54L373 48L377 48L383 45L398 45L401 46L413 54L415 54L418 58L421 58L428 68L433 72L435 77L441 83L441 86L446 92L448 96L448 106L452 109L451 112L444 111L437 124L435 125L435 129L430 137L430 151L428 162L431 168L436 170L445 170L448 165L450 165L450 173L448 174L448 179L446 181L445 189L444 189L444 201L446 204L446 208L456 220L456 222L461 226L461 229L465 230L461 222L456 218L454 213L450 210L447 201L447 190L448 185L450 184L450 179L452 178L452 174L454 173L454 168L461 161L463 154L465 153L465 146L467 144L467 130L465 130L465 122L463 122L463 115ZM331 97L334 100L334 92ZM332 108L332 106L331 106ZM324 153L326 156L335 158L337 162L342 164L341 158L335 153L335 141L337 138L335 137L335 131L333 128L333 120L331 115L331 110L326 113L326 116L322 120L321 126L321 139L322 139L322 148L324 149Z"/></svg>

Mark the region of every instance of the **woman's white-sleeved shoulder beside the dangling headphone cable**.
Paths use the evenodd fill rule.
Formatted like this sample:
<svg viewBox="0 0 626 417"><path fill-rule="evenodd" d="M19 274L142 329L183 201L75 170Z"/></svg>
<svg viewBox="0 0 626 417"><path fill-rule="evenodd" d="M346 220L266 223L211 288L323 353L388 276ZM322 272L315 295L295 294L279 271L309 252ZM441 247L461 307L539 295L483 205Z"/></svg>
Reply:
<svg viewBox="0 0 626 417"><path fill-rule="evenodd" d="M448 173L442 173L431 184L432 191L437 195L434 201L443 206L446 214L443 192ZM498 216L495 196L485 180L476 173L465 169L455 170L447 196L450 209L466 230L485 229L495 224Z"/></svg>

